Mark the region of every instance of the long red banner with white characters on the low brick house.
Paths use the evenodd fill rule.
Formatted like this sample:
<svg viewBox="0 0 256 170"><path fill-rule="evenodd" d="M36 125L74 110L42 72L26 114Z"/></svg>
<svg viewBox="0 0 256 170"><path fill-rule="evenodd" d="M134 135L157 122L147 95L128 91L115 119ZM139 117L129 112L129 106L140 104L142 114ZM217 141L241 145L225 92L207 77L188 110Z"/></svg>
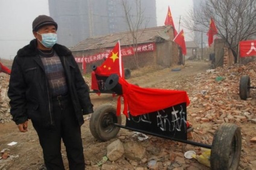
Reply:
<svg viewBox="0 0 256 170"><path fill-rule="evenodd" d="M156 44L155 43L147 43L147 44L142 44L139 45L138 47L136 47L136 51L138 53L142 53L142 52L152 52L155 51L156 49ZM95 55L89 55L89 56L85 56L85 62L86 63L91 63L91 62L96 62L96 61L100 61L103 58L108 58L109 56L109 50L106 50L105 52L101 52ZM135 50L133 50L133 47L126 47L121 49L121 54L122 56L129 56L129 55L134 55ZM75 61L76 62L83 62L83 57L75 57Z"/></svg>

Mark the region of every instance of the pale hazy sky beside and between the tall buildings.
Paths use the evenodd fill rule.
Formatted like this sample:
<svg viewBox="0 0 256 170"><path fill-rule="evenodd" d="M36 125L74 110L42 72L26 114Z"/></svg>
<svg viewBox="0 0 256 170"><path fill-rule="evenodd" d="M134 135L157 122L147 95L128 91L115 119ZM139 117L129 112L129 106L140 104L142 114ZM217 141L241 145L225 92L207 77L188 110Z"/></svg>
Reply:
<svg viewBox="0 0 256 170"><path fill-rule="evenodd" d="M192 0L156 0L158 26L164 25L168 5L177 31L181 16L181 30L182 18L193 6ZM13 59L34 38L32 22L40 14L49 15L48 0L0 0L0 58ZM186 40L190 40L191 36L186 36L185 29L184 32Z"/></svg>

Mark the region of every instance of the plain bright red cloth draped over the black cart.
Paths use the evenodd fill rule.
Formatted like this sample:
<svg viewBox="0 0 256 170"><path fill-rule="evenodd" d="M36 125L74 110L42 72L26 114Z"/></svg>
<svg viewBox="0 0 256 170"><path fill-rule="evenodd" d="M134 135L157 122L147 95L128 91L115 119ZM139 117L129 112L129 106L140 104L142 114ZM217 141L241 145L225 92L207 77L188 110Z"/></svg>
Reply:
<svg viewBox="0 0 256 170"><path fill-rule="evenodd" d="M187 106L190 104L186 91L142 88L126 82L121 77L118 83L122 86L123 94L118 97L117 115L121 112L121 97L124 99L123 114L126 117L128 111L131 115L138 116L180 103L186 103Z"/></svg>

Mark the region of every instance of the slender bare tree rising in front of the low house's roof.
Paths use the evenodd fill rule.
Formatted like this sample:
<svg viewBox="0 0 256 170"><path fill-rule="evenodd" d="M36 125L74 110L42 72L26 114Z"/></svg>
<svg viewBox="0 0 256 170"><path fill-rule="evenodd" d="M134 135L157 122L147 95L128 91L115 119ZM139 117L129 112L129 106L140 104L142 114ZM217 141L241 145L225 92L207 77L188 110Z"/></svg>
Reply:
<svg viewBox="0 0 256 170"><path fill-rule="evenodd" d="M127 3L128 1L129 3ZM130 44L132 44L133 49L137 49L138 39L143 34L143 31L141 32L138 30L146 28L149 20L146 20L146 18L143 16L144 10L142 10L141 1L134 0L134 2L135 4L132 4L130 0L122 0L127 26L129 27L130 34L132 35ZM133 9L135 9L135 11ZM135 54L133 56L135 59L135 65L137 68L139 68L137 50L135 50Z"/></svg>

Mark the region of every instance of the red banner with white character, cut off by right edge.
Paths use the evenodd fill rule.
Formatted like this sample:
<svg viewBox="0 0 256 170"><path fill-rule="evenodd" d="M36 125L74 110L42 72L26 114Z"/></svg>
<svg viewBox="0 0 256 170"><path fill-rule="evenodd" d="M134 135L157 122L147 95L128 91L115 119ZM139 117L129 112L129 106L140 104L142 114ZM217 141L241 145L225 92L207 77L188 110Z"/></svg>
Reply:
<svg viewBox="0 0 256 170"><path fill-rule="evenodd" d="M240 57L256 55L256 40L239 42Z"/></svg>

